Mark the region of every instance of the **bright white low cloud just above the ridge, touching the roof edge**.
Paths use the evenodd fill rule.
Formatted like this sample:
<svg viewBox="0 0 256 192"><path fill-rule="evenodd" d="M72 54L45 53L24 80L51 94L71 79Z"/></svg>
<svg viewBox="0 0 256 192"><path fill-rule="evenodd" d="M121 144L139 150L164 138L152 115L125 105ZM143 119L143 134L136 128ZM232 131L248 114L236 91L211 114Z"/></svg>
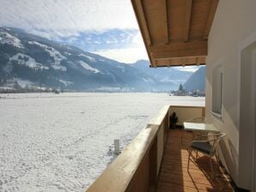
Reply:
<svg viewBox="0 0 256 192"><path fill-rule="evenodd" d="M94 53L122 63L135 63L139 59L149 60L144 47L94 51Z"/></svg>

